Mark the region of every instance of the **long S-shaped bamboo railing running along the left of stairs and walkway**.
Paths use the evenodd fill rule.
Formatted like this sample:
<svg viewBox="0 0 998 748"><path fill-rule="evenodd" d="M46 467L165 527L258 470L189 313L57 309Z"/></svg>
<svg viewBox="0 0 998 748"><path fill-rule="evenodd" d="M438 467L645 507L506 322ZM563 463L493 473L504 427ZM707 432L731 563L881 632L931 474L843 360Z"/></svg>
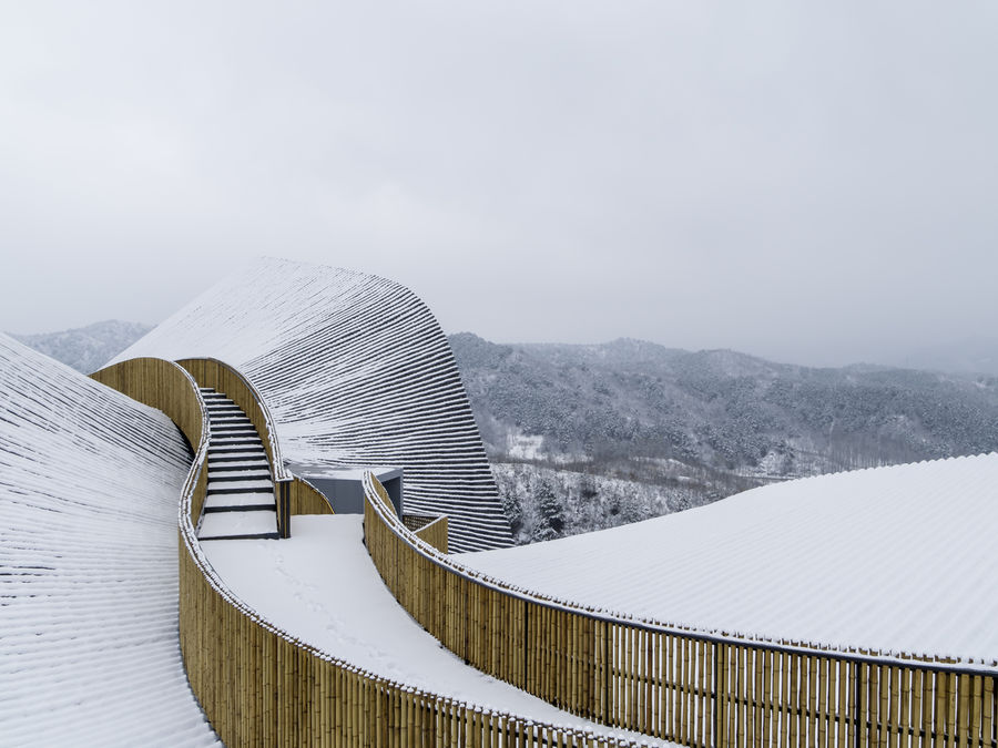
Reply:
<svg viewBox="0 0 998 748"><path fill-rule="evenodd" d="M266 621L228 590L194 534L206 488L208 429L193 377L161 359L132 359L92 377L166 412L194 447L179 512L180 645L191 688L225 745L637 745L613 735L534 723L384 678Z"/></svg>

